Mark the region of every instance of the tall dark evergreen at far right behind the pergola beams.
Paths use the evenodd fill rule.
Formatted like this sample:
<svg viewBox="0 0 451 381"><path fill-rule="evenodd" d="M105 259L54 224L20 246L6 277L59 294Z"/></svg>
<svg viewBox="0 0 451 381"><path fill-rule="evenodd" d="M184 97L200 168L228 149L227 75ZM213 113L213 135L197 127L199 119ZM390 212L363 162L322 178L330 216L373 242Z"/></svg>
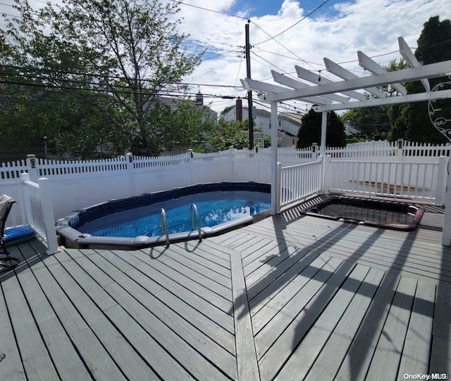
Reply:
<svg viewBox="0 0 451 381"><path fill-rule="evenodd" d="M451 22L439 17L431 17L424 23L424 28L417 40L418 47L415 56L424 64L451 60ZM431 89L443 79L430 79ZM408 93L424 91L421 82L408 82L405 84ZM451 115L451 106L445 106L442 112ZM406 138L409 141L424 143L447 143L445 136L435 129L428 115L428 102L408 103L394 109L390 140Z"/></svg>

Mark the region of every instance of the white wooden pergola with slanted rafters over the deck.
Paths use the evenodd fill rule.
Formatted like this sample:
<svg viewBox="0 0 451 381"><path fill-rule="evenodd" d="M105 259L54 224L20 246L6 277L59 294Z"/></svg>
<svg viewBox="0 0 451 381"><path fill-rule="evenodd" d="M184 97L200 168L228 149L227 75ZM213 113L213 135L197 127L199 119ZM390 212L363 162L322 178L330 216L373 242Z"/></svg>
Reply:
<svg viewBox="0 0 451 381"><path fill-rule="evenodd" d="M378 65L378 63L362 53L362 51L358 51L357 56L359 58L359 65L371 73L371 75L367 77L358 77L344 67L334 63L332 60L324 58L326 70L341 80L333 82L330 79L321 77L321 72L317 74L296 65L295 69L297 77L299 77L300 80L287 77L271 70L273 80L277 84L269 84L249 78L242 79L241 82L248 91L256 91L259 94L261 102L271 103L272 126L277 126L278 102L295 100L311 103L312 108L316 112L322 113L320 152L323 154L326 150L328 111L429 101L431 99L432 91L428 79L451 75L451 60L430 65L421 65L402 37L398 38L398 42L400 54L409 65L409 68L404 70L387 72L381 65ZM407 90L402 83L412 81L421 81L424 91L421 93L407 94ZM391 86L392 89L395 90L390 96L388 96L388 93L385 91L378 89L378 86L385 85ZM372 94L373 97L368 98L362 91ZM451 98L451 91L449 89L433 91L433 98ZM275 189L278 162L277 129L272 129L271 150L271 186L272 189ZM448 172L450 172L450 164L448 164L448 169ZM448 177L447 183L451 189L451 176ZM275 192L271 193L271 205L273 208L276 205ZM451 191L447 192L446 205L451 205ZM273 212L275 212L275 209L273 209ZM447 209L447 212L445 212L443 245L451 245L450 207Z"/></svg>

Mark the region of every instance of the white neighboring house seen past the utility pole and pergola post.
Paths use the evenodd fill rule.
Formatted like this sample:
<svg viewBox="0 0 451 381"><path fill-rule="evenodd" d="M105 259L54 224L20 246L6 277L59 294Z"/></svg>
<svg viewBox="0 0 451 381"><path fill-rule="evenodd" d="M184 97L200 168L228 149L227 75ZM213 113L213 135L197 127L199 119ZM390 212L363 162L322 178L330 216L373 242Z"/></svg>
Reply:
<svg viewBox="0 0 451 381"><path fill-rule="evenodd" d="M248 119L248 108L242 108L242 120ZM224 119L228 122L232 120L239 120L237 116L236 106L228 110L223 115ZM295 147L297 143L297 132L301 127L301 117L297 114L280 113L277 117L278 121L278 145L280 147ZM271 135L271 112L257 108L257 112L254 119L256 127L260 127L264 134Z"/></svg>

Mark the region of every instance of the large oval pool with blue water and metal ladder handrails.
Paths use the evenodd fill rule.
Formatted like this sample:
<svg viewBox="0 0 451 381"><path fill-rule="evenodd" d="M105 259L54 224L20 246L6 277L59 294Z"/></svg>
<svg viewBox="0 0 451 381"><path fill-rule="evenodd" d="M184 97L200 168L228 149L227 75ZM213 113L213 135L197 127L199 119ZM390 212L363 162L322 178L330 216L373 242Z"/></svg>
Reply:
<svg viewBox="0 0 451 381"><path fill-rule="evenodd" d="M215 235L270 208L268 184L199 184L93 205L61 219L56 229L68 247L145 247Z"/></svg>

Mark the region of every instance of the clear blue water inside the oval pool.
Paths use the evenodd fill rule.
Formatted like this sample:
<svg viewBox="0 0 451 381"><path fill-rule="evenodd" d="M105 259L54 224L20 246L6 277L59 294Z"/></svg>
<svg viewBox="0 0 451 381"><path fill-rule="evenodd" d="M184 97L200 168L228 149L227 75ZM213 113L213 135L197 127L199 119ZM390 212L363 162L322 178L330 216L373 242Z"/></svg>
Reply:
<svg viewBox="0 0 451 381"><path fill-rule="evenodd" d="M175 200L125 209L108 214L78 227L78 231L103 237L137 237L161 235L160 214L165 209L168 233L192 231L191 205L199 211L201 226L216 226L252 216L271 208L271 195L255 191L216 191L189 195ZM197 222L194 222L197 228Z"/></svg>

